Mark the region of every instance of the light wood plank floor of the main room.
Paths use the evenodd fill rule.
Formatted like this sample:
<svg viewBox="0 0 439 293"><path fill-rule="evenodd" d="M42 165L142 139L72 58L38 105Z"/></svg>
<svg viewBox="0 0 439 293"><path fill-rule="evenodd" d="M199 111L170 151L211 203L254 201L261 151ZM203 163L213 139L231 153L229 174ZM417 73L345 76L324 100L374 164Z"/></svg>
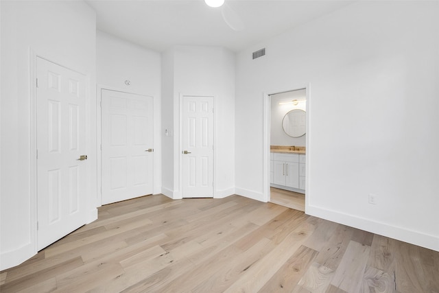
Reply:
<svg viewBox="0 0 439 293"><path fill-rule="evenodd" d="M439 253L230 196L146 196L0 272L1 292L439 292Z"/></svg>

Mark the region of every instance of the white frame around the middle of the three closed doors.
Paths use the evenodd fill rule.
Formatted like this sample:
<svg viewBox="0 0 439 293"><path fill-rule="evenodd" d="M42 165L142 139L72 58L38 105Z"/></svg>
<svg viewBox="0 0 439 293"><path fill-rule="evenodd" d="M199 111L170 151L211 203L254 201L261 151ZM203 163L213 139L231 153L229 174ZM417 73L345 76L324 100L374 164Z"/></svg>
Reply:
<svg viewBox="0 0 439 293"><path fill-rule="evenodd" d="M133 91L127 91L126 89L119 89L117 87L114 86L106 86L104 84L97 84L96 85L96 127L97 127L97 132L96 132L96 164L97 164L97 207L102 207L102 90L107 90L107 91L119 91L121 93L128 93L128 94L132 94L132 95L144 95L147 97L152 97L152 105L153 105L153 113L155 111L155 107L156 107L156 99L154 97L154 95L149 95L146 93L135 93ZM153 173L155 173L156 170L156 156L157 153L161 154L161 150L158 150L158 143L156 142L156 115L154 115L153 117L153 128L152 128L152 141L154 144L154 152L152 152L153 154ZM155 179L156 176L154 176L154 178L152 179L152 191L153 194L155 194L154 192L154 188L156 187L155 184Z"/></svg>

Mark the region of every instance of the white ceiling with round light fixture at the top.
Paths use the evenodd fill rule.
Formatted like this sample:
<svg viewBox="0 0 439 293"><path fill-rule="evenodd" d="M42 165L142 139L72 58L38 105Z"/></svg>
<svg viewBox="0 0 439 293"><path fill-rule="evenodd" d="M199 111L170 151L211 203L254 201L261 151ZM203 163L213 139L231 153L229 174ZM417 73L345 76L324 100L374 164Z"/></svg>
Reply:
<svg viewBox="0 0 439 293"><path fill-rule="evenodd" d="M173 45L221 46L240 51L353 0L86 0L97 29L163 51Z"/></svg>

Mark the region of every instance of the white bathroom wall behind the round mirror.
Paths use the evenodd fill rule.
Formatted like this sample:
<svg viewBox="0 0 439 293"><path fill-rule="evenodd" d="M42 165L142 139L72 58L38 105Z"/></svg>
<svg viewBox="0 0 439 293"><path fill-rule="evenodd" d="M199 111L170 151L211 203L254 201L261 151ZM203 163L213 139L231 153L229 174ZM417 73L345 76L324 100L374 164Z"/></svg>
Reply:
<svg viewBox="0 0 439 293"><path fill-rule="evenodd" d="M297 99L298 104L279 104ZM287 91L270 95L270 145L305 146L307 134L301 137L290 137L282 127L283 117L294 109L307 110L307 91Z"/></svg>

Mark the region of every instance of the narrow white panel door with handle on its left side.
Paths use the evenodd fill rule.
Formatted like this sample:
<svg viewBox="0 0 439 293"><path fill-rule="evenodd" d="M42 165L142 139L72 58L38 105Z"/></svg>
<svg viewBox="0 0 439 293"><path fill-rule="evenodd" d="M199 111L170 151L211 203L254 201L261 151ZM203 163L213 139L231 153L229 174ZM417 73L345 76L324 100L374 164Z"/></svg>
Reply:
<svg viewBox="0 0 439 293"><path fill-rule="evenodd" d="M182 98L182 197L213 197L213 97Z"/></svg>

